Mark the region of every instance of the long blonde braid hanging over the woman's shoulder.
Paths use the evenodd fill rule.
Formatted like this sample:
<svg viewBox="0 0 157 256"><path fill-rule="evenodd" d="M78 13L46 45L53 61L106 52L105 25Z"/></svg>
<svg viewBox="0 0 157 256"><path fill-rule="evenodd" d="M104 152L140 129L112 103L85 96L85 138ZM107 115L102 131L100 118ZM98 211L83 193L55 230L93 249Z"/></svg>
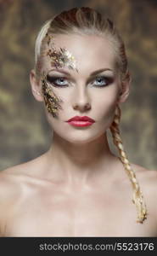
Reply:
<svg viewBox="0 0 157 256"><path fill-rule="evenodd" d="M121 108L117 105L117 108L115 110L115 118L112 125L109 127L109 129L111 131L115 146L119 149L119 152L121 155L119 159L121 160L126 170L126 173L132 183L132 189L133 189L132 202L137 207L137 222L143 223L144 219L147 218L147 209L143 199L143 194L137 182L137 177L135 175L135 172L132 170L132 166L127 160L126 152L124 151L124 148L123 148L123 143L121 141L120 130L119 130L120 119L121 119Z"/></svg>

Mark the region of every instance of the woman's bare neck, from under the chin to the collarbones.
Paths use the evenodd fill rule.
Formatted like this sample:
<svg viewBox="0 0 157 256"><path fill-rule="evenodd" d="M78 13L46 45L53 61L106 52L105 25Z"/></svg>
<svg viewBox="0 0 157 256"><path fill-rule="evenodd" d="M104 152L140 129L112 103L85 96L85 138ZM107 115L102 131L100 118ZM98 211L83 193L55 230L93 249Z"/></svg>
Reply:
<svg viewBox="0 0 157 256"><path fill-rule="evenodd" d="M55 177L70 183L85 183L89 177L110 173L115 158L106 133L89 143L70 143L54 133L47 156L48 166L55 166Z"/></svg>

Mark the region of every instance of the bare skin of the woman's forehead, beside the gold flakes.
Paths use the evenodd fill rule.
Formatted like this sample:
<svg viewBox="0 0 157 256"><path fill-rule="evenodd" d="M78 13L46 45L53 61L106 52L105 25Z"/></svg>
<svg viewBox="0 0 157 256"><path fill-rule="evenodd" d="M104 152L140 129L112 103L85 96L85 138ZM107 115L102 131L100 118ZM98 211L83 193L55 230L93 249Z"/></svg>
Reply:
<svg viewBox="0 0 157 256"><path fill-rule="evenodd" d="M67 49L76 59L76 68L79 72L91 72L98 68L115 68L115 54L113 44L109 38L97 35L56 35L51 38L51 43L56 50ZM51 45L47 49L51 49ZM51 68L51 61L44 58L44 67Z"/></svg>

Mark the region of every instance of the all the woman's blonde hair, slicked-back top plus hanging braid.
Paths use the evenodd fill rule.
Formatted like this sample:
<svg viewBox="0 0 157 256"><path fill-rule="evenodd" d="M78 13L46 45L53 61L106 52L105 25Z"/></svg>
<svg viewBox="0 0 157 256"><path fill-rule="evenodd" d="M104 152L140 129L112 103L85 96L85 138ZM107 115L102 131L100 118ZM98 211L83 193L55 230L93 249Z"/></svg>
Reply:
<svg viewBox="0 0 157 256"><path fill-rule="evenodd" d="M121 81L129 79L130 75L127 67L126 51L123 40L116 30L113 22L109 18L104 18L94 9L87 7L74 8L62 12L59 15L48 20L42 29L38 33L36 38L36 57L35 57L35 69L36 75L40 73L41 61L42 61L42 50L44 49L44 39L46 35L57 35L57 34L97 34L98 36L108 37L110 42L113 44L113 50L115 50L115 61L116 65L121 74ZM117 113L116 113L117 112ZM135 172L126 157L126 153L123 148L121 141L119 124L121 119L121 109L117 106L115 111L115 119L112 125L109 127L115 146L120 152L120 160L126 170L128 177L132 183L133 189L133 203L137 207L137 221L143 223L146 218L146 206L143 200L143 194L140 190L139 184L137 183L137 177Z"/></svg>

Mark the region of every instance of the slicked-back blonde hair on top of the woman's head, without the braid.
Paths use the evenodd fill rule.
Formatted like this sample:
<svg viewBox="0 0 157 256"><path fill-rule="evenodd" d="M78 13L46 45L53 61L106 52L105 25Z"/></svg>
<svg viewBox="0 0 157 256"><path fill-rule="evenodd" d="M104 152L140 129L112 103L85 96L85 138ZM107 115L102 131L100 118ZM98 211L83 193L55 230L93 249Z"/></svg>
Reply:
<svg viewBox="0 0 157 256"><path fill-rule="evenodd" d="M40 74L42 66L42 51L45 47L46 34L94 34L108 37L113 44L115 51L115 61L121 72L121 79L129 79L127 69L126 51L123 40L116 30L114 23L109 18L104 18L96 10L81 7L62 12L46 21L36 37L35 45L35 69L36 74Z"/></svg>

